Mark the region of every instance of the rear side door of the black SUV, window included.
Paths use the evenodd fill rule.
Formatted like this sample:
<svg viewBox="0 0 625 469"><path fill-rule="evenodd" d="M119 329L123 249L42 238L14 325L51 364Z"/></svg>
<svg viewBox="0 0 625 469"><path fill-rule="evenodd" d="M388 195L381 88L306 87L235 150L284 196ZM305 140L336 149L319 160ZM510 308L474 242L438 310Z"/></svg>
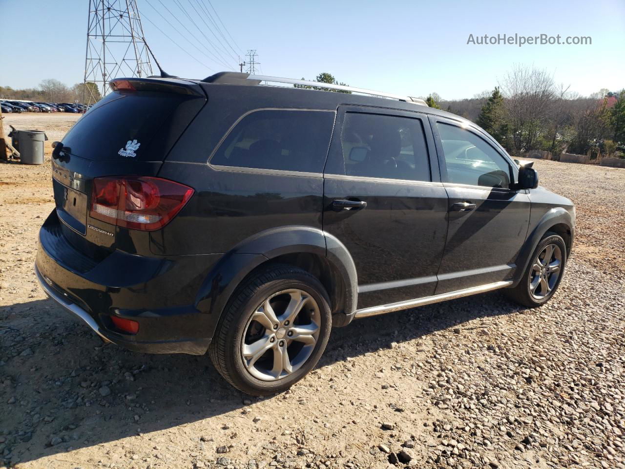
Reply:
<svg viewBox="0 0 625 469"><path fill-rule="evenodd" d="M357 308L434 293L446 216L427 116L339 107L324 170L322 223L354 260Z"/></svg>

